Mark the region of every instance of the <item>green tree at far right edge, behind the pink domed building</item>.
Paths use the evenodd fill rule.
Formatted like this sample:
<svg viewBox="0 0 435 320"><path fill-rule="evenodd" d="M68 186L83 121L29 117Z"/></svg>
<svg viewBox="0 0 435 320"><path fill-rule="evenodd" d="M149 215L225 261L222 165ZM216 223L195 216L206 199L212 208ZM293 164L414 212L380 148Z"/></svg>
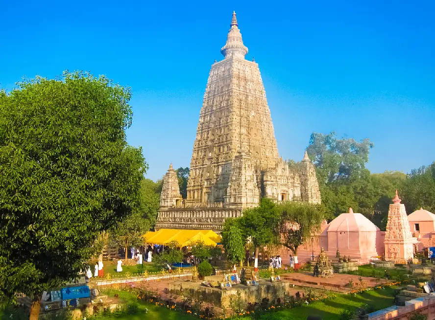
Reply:
<svg viewBox="0 0 435 320"><path fill-rule="evenodd" d="M435 161L407 175L402 198L409 213L420 207L435 212Z"/></svg>

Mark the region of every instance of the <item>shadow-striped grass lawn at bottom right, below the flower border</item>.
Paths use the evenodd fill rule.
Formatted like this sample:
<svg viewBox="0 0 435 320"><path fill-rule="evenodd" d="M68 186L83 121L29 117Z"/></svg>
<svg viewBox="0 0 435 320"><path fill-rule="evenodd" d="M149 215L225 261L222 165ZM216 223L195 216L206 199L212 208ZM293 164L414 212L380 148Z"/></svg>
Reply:
<svg viewBox="0 0 435 320"><path fill-rule="evenodd" d="M310 315L320 316L322 320L337 320L340 312L347 308L355 310L364 304L370 305L374 310L381 310L394 304L395 289L397 287L387 287L385 289L366 291L362 294L337 295L335 299L315 301L308 306L297 307L278 311L267 315L268 320L301 320L307 319Z"/></svg>

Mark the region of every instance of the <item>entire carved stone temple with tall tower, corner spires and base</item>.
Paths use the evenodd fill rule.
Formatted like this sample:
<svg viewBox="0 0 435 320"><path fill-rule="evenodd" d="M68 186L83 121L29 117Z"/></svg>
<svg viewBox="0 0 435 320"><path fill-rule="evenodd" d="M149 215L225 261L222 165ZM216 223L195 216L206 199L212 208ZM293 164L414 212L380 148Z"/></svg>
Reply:
<svg viewBox="0 0 435 320"><path fill-rule="evenodd" d="M235 12L220 52L224 59L212 65L199 113L187 199L177 202L178 186L167 174L164 185L173 190L162 191L156 229L219 231L225 218L241 216L262 197L321 201L307 152L295 167L279 157L260 70L245 59Z"/></svg>

